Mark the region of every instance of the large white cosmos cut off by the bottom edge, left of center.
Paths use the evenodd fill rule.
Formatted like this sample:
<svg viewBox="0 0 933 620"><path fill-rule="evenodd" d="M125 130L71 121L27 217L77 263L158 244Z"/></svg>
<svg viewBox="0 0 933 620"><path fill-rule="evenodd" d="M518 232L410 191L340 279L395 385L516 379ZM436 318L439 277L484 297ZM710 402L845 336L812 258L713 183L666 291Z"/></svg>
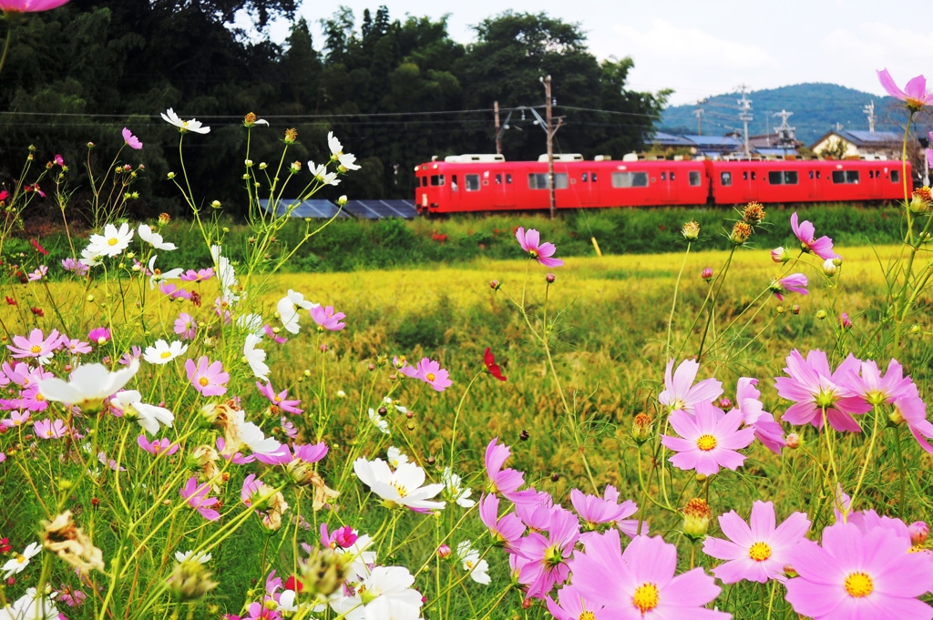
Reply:
<svg viewBox="0 0 933 620"><path fill-rule="evenodd" d="M401 566L377 566L352 597L342 597L330 607L346 620L418 620L421 593L411 589L414 577Z"/></svg>

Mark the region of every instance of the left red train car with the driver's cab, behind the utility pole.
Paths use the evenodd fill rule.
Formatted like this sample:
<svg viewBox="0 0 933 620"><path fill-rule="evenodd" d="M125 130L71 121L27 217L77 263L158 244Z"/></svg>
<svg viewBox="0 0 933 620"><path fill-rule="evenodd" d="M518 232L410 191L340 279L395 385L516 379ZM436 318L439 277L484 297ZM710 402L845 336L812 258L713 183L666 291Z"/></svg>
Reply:
<svg viewBox="0 0 933 620"><path fill-rule="evenodd" d="M421 164L415 201L425 214L548 209L548 163L501 156L456 156ZM709 183L703 161L554 161L558 209L703 204Z"/></svg>

